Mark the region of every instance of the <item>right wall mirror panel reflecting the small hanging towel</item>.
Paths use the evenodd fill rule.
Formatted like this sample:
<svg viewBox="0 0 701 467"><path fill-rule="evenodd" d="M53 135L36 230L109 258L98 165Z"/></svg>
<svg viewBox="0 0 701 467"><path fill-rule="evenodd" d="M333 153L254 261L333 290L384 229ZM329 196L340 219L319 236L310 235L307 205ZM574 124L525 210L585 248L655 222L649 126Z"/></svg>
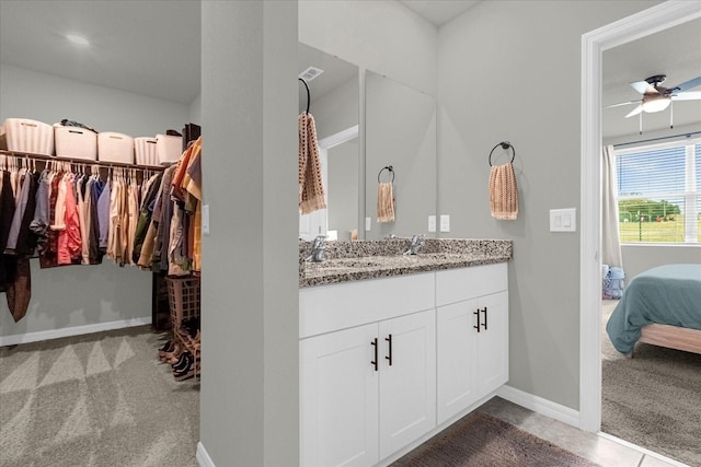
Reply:
<svg viewBox="0 0 701 467"><path fill-rule="evenodd" d="M428 232L436 214L436 102L390 78L366 72L366 217L368 240L406 237ZM378 175L387 182L392 166L394 222L377 222Z"/></svg>

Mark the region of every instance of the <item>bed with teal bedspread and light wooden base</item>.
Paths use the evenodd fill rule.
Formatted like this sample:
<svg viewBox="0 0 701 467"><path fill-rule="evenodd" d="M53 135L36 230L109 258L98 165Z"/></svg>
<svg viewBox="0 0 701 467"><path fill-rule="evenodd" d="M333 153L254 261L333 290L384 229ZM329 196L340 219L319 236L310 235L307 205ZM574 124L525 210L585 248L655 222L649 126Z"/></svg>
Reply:
<svg viewBox="0 0 701 467"><path fill-rule="evenodd" d="M701 353L701 264L658 266L635 276L606 331L629 357L635 342Z"/></svg>

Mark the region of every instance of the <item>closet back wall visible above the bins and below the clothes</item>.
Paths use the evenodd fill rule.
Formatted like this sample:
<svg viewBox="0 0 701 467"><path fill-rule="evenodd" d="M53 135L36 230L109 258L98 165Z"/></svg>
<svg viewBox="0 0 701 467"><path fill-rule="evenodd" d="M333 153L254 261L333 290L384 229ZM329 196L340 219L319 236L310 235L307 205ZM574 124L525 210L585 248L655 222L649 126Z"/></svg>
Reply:
<svg viewBox="0 0 701 467"><path fill-rule="evenodd" d="M54 124L69 118L100 131L134 137L180 130L188 119L182 104L145 97L8 66L0 67L0 120L31 118ZM14 323L0 296L0 337L9 341L30 332L65 330L126 319L150 319L151 273L119 268L105 258L100 266L39 269L32 265L32 301ZM44 332L44 334L42 334ZM8 341L8 340L5 340Z"/></svg>

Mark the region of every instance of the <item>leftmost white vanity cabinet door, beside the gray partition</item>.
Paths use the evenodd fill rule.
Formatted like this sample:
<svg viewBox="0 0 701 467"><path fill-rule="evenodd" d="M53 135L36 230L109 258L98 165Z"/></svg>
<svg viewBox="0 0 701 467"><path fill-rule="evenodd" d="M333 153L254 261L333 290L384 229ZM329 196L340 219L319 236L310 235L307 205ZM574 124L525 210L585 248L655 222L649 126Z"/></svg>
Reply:
<svg viewBox="0 0 701 467"><path fill-rule="evenodd" d="M378 462L377 336L370 324L300 341L302 466Z"/></svg>

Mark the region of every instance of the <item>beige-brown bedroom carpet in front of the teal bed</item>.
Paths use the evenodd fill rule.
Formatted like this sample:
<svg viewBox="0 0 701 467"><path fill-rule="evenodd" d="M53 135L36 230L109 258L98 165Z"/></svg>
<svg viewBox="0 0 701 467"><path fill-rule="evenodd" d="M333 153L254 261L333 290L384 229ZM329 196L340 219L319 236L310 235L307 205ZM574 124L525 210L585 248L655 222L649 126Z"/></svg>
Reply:
<svg viewBox="0 0 701 467"><path fill-rule="evenodd" d="M701 355L637 343L628 359L606 330L601 353L601 431L701 467Z"/></svg>

